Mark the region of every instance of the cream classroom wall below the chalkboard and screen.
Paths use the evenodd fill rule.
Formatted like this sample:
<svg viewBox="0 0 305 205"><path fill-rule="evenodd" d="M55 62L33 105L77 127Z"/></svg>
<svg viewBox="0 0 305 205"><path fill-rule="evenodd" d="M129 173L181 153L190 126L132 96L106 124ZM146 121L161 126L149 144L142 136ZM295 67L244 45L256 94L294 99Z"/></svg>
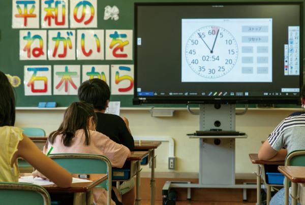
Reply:
<svg viewBox="0 0 305 205"><path fill-rule="evenodd" d="M242 110L237 109L236 112ZM247 139L236 140L236 173L252 173L256 166L252 165L248 154L257 153L261 141L277 126L282 119L294 112L293 109L250 109L245 115L236 116L236 130L248 134ZM63 119L63 110L17 110L16 126L41 127L46 133L58 128ZM174 117L151 117L147 110L124 110L121 116L129 119L134 136L170 137L175 142L175 172L197 173L199 171L199 140L188 139L186 133L199 129L199 116L191 115L186 110L174 112ZM173 172L168 169L168 143L164 142L156 150L156 172ZM148 171L148 166L143 167Z"/></svg>

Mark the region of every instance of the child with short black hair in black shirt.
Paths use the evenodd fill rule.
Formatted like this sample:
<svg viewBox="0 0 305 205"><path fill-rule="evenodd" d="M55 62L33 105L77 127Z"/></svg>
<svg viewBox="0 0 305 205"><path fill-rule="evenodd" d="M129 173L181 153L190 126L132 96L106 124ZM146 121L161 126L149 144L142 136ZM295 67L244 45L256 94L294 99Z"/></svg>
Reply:
<svg viewBox="0 0 305 205"><path fill-rule="evenodd" d="M101 79L91 79L83 82L78 88L80 101L90 103L98 118L97 131L109 136L116 143L125 145L131 151L134 149L134 139L129 129L129 122L126 118L105 113L109 104L110 89L106 82ZM124 168L129 168L124 165ZM123 204L134 204L135 190L134 179L123 182L119 190L129 190L122 196Z"/></svg>

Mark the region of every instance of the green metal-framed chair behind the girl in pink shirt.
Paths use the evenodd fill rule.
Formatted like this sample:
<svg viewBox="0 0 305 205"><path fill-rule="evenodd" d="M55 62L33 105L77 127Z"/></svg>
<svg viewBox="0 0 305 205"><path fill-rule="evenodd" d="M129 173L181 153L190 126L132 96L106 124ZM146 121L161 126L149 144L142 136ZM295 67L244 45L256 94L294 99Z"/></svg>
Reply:
<svg viewBox="0 0 305 205"><path fill-rule="evenodd" d="M107 190L107 204L111 203L111 162L103 155L97 154L50 154L60 166L68 170L72 174L107 174L108 180L101 183L97 187L102 187Z"/></svg>

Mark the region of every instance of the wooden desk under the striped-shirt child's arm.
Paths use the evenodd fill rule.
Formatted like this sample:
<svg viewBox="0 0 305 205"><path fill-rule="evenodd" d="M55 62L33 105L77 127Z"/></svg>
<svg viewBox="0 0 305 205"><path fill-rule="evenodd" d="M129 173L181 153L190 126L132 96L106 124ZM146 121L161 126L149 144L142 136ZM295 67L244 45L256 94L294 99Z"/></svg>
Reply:
<svg viewBox="0 0 305 205"><path fill-rule="evenodd" d="M257 195L256 200L257 204L261 205L261 175L264 174L264 165L265 164L275 164L275 165L284 165L285 161L264 161L258 158L258 154L249 154L249 158L253 164L257 164L257 173L256 173L256 185L257 185ZM265 177L263 176L265 182ZM269 205L271 199L271 186L266 184L267 188L267 205Z"/></svg>

